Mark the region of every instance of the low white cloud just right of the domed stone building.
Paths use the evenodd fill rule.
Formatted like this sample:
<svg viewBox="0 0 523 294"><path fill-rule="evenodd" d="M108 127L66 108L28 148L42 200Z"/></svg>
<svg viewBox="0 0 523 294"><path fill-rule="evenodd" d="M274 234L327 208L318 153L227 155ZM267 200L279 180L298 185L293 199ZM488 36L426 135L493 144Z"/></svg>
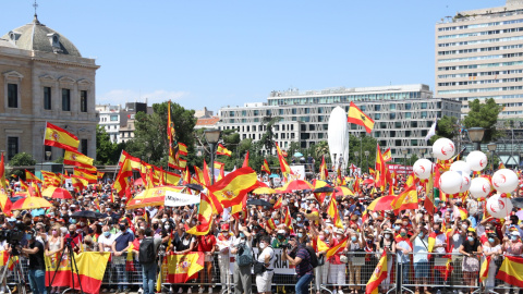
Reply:
<svg viewBox="0 0 523 294"><path fill-rule="evenodd" d="M155 90L151 93L139 93L131 89L113 89L105 94L97 95L97 105L125 105L125 102L145 102L151 106L153 103L161 103L163 101L175 101L188 96L186 91L168 91Z"/></svg>

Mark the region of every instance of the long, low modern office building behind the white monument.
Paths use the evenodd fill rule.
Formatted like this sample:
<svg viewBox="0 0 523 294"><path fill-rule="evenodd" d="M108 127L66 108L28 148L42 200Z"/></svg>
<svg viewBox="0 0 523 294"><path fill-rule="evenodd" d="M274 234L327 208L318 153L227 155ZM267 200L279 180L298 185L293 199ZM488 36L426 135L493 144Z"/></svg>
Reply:
<svg viewBox="0 0 523 294"><path fill-rule="evenodd" d="M258 140L267 130L264 118L280 117L273 132L281 148L289 148L293 142L308 148L327 140L330 112L337 106L349 111L351 101L375 120L370 136L377 138L381 147L390 147L394 159L403 158L401 149L414 152L426 147L425 136L436 118L460 117L459 101L433 98L427 85L415 84L272 91L267 102L221 108L218 126L236 128L241 139ZM356 136L365 133L358 125L351 124L348 128Z"/></svg>

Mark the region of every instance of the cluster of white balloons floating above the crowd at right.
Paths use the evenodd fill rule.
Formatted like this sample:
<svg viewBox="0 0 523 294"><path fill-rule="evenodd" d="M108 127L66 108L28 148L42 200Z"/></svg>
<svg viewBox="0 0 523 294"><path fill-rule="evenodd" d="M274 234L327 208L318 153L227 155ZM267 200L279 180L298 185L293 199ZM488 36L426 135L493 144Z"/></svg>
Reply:
<svg viewBox="0 0 523 294"><path fill-rule="evenodd" d="M454 156L454 143L448 138L439 138L433 145L434 156L446 161ZM481 172L487 167L487 156L482 151L472 151L466 160L452 162L449 170L439 177L439 188L450 195L469 191L475 199L485 198L496 189L498 194L487 199L487 211L495 218L506 218L512 211L512 203L507 195L518 188L518 175L508 169L498 170L494 173L491 182L487 177L477 176L471 179L472 172ZM414 174L422 180L431 176L437 167L428 159L418 159L413 167Z"/></svg>

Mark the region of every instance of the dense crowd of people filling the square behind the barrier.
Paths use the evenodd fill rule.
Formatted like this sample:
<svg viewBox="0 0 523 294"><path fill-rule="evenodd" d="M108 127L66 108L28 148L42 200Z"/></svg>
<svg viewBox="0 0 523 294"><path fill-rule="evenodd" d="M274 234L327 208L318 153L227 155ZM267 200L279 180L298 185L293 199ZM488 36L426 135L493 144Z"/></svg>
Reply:
<svg viewBox="0 0 523 294"><path fill-rule="evenodd" d="M363 175L363 179L368 176ZM398 176L400 188L397 194L401 193L405 180ZM17 189L14 181L11 189L13 193ZM136 187L134 193L142 189ZM87 187L73 199L51 199L53 206L50 208L13 211L10 217L2 215L0 225L2 230L13 230L20 223L25 226L21 254L29 258L29 284L36 294L47 293L44 256L66 249L64 243L68 238L72 238L73 250L112 253L105 278L110 283L105 283L101 292L122 293L136 286L131 284L126 267L127 254L133 248L131 254L135 256L136 269L142 270L141 291L145 294L156 292L159 267L157 261L150 266L150 262L146 266L139 262L139 245L133 246L135 240L154 244L155 256L159 252L205 254L204 269L198 278L185 284L170 285L174 293L212 293L234 286L234 293L301 294L308 293L311 285L317 294L324 289L336 294L364 293L364 285L384 250L390 258L387 262L388 277L380 284L380 293L398 283L414 285L412 291L416 294L440 293L443 285L457 292L472 293L481 286L478 272L486 256L491 256L492 262L483 286L492 289L502 284L495 277L503 256L523 255L522 224L515 213L518 208L507 220L499 220L485 217L482 204L471 197L436 198L434 211L427 211L421 205L417 209L394 215L392 211L368 211L367 206L386 194L372 185L362 185L360 191L354 195L331 196L338 203L341 226L337 226L336 220L327 213L330 196L318 203L314 191L294 191L248 194L248 199L263 199L271 205L281 198L281 208L248 205L246 215L215 215L209 233L194 236L187 231L197 224L197 206L129 210L125 208L127 199L114 197L112 201L111 185L101 182ZM423 199L425 191L418 189L418 196ZM454 207L464 208L467 215L458 216ZM71 217L81 210L100 215L97 219ZM287 210L291 217L290 225L284 221ZM269 220L275 226L269 225ZM435 236L431 252L429 236ZM342 250L325 258L328 248L344 240L348 242ZM319 250L318 241L327 244L327 249ZM252 264L256 274L252 279L252 264L241 265L238 260L254 248L257 248L257 255ZM7 240L0 242L0 250L11 249ZM275 273L275 249L282 250L281 259L295 269L295 277ZM234 256L236 262L231 277L229 267ZM362 258L364 262L361 262ZM452 270L438 270L437 258L450 259ZM399 266L392 267L396 264ZM398 281L392 278L394 272ZM5 280L0 287L0 294L7 292ZM51 294L60 291L51 287ZM507 291L514 290L507 285Z"/></svg>

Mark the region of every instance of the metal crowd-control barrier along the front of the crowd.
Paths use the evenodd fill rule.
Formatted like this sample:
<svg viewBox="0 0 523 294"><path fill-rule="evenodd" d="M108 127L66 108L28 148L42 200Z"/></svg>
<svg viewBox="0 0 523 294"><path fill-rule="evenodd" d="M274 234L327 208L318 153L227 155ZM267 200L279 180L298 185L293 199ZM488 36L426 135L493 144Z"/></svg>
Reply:
<svg viewBox="0 0 523 294"><path fill-rule="evenodd" d="M255 253L255 258L256 258ZM342 289L344 293L348 291L358 290L360 293L365 290L368 280L374 273L379 261L379 253L351 252L346 253L345 262L329 262L315 269L315 279L311 283L309 290L313 293L317 291L332 293L333 290ZM414 293L418 290L421 293L428 290L430 293L453 293L471 292L474 293L509 293L514 289L518 293L519 287L504 284L503 281L495 279L500 261L490 262L490 271L488 278L484 282L479 282L479 269L484 262L482 256L477 258L477 267L466 260L461 254L388 254L388 278L381 282L379 293ZM464 260L465 259L465 260ZM188 289L192 293L197 293L200 285L205 286L205 293L209 293L209 287L214 293L231 291L234 287L232 265L234 259L232 255L215 254L206 258L204 269L199 271L198 278L192 279L183 284L162 283L163 292L187 293ZM27 258L20 257L20 264L27 279L28 272ZM275 271L272 277L273 293L291 293L296 284L295 274L285 274L278 272L294 272L292 267L276 256L276 265L279 271ZM470 271L477 269L477 271ZM163 277L167 272L163 271ZM402 279L400 279L400 277ZM253 293L256 291L256 275L251 277ZM10 285L16 283L15 275L10 274L7 278ZM112 256L108 262L104 277L101 290L109 292L121 286L132 291L138 290L143 284L142 266L134 258L132 265L125 262L125 258L115 258ZM180 292L181 291L181 292Z"/></svg>

